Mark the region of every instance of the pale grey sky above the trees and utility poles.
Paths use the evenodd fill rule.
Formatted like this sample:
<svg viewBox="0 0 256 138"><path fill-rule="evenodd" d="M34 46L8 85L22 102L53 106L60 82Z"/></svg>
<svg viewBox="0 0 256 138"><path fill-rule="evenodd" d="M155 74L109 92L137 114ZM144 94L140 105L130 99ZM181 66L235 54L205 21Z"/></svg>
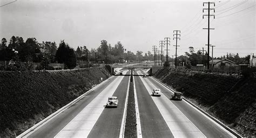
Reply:
<svg viewBox="0 0 256 138"><path fill-rule="evenodd" d="M256 0L210 1L210 45L213 57L238 53L256 54ZM188 47L207 50L208 5L196 0L0 0L0 38L36 38L38 42L65 40L70 47L97 48L101 40L111 46L120 41L136 54L159 48L159 41L170 38L169 55L175 54L173 31L180 31L177 55ZM166 49L166 45L164 47ZM144 55L143 53L143 55ZM166 53L166 50L164 50ZM210 48L210 55L212 48Z"/></svg>

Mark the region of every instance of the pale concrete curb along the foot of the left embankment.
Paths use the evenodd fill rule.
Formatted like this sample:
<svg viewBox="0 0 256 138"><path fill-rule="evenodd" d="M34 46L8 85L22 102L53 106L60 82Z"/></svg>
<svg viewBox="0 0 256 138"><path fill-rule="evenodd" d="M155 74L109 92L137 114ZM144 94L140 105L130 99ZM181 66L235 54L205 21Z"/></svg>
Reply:
<svg viewBox="0 0 256 138"><path fill-rule="evenodd" d="M102 83L99 83L98 85L96 85L95 87L93 87L92 89L90 89L89 91L85 92L83 95L80 95L79 97L77 97L76 99L72 100L69 104L66 104L65 106L63 106L62 108L60 108L59 110L55 111L54 113L52 113L51 115L49 115L48 117L46 117L45 119L43 119L42 121L38 122L36 125L32 126L31 128L27 129L25 132L23 132L22 134L18 135L17 137L23 137L27 134L29 134L30 132L32 132L35 129L38 129L40 127L42 127L43 124L46 124L47 122L49 122L50 120L52 120L54 117L56 117L58 114L64 112L67 108L69 108L70 106L72 106L73 104L77 103L77 101L79 101L80 99L82 99L85 95L89 94L91 91L95 90L96 88L98 88L100 85L104 84L105 82L109 81L109 79L113 78L113 76L107 78L105 81L103 81Z"/></svg>

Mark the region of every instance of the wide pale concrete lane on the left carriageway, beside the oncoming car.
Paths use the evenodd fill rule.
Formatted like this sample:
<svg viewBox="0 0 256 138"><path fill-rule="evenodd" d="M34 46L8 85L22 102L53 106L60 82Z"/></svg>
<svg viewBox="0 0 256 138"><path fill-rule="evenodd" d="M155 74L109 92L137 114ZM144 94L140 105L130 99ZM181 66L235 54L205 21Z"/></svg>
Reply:
<svg viewBox="0 0 256 138"><path fill-rule="evenodd" d="M107 97L113 95L124 76L117 77L55 137L87 137L104 110Z"/></svg>

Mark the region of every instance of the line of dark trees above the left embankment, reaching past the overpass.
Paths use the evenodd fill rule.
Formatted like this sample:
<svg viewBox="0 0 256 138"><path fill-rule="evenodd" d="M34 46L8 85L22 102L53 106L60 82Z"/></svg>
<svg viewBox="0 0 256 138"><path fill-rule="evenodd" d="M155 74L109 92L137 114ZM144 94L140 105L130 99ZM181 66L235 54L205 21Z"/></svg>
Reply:
<svg viewBox="0 0 256 138"><path fill-rule="evenodd" d="M142 51L136 54L124 48L118 41L114 46L106 40L100 41L98 48L89 50L86 46L78 46L76 50L68 43L61 40L58 44L55 41L38 42L36 38L12 36L9 42L3 38L0 43L0 61L7 61L7 65L0 64L0 70L33 70L33 64L39 63L36 70L49 70L53 67L50 63L63 63L65 69L73 69L79 64L92 63L125 63L127 61L153 60L153 54Z"/></svg>

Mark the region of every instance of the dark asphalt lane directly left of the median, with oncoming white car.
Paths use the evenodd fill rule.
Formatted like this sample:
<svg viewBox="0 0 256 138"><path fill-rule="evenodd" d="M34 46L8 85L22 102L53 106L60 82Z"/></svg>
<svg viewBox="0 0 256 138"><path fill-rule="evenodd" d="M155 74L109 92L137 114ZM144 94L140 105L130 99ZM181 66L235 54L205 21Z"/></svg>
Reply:
<svg viewBox="0 0 256 138"><path fill-rule="evenodd" d="M126 74L130 74L130 71ZM130 76L124 76L122 82L113 93L113 96L118 98L118 107L104 108L88 137L119 137L129 78ZM104 101L106 103L107 99Z"/></svg>

